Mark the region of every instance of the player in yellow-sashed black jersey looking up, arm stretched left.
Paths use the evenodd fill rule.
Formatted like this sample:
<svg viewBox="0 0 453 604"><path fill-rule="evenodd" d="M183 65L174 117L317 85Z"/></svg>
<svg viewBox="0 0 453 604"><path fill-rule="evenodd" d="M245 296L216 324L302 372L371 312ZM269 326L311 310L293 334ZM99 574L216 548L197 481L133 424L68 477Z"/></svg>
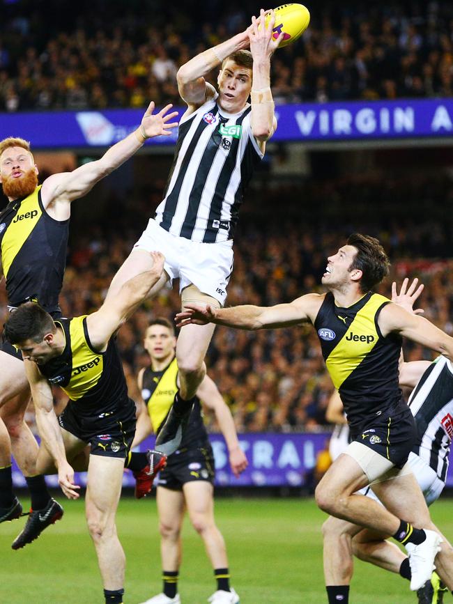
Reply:
<svg viewBox="0 0 453 604"><path fill-rule="evenodd" d="M187 304L178 324L207 322L243 329L272 329L309 322L321 341L323 356L351 426L353 442L325 473L316 488L316 502L332 516L393 535L408 550L416 591L431 578L433 560L450 586L450 545L435 531L420 486L406 460L415 441L415 424L398 386L401 336L453 358L453 339L409 313L372 288L388 274L389 262L378 240L355 234L328 258L323 285L328 293L307 294L289 304L262 308L240 306L203 309ZM373 484L385 507L355 491ZM401 520L405 518L406 520ZM423 529L422 527L425 527ZM429 530L427 528L429 527ZM344 545L344 544L343 544ZM330 604L348 602L338 561L347 546L324 552L325 582Z"/></svg>

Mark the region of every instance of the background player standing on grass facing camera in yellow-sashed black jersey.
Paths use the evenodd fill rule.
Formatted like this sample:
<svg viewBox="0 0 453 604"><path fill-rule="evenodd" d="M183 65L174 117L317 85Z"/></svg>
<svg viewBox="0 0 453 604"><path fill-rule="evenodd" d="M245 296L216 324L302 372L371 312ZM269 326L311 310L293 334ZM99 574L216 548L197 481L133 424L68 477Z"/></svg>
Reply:
<svg viewBox="0 0 453 604"><path fill-rule="evenodd" d="M139 373L139 389L144 399L134 444L158 433L168 415L178 389L176 337L167 319L157 318L145 332L144 347L151 357L150 366ZM201 400L200 400L201 399ZM229 451L231 470L237 476L247 467L247 458L239 447L231 412L213 380L206 376L197 390L194 408L179 449L169 455L167 467L158 482L163 590L147 604L180 604L178 571L181 564L181 526L185 509L192 525L204 541L213 565L217 590L209 601L234 604L239 596L229 586L229 569L224 539L215 525L213 504L214 459L204 427L201 401L215 412L217 424Z"/></svg>

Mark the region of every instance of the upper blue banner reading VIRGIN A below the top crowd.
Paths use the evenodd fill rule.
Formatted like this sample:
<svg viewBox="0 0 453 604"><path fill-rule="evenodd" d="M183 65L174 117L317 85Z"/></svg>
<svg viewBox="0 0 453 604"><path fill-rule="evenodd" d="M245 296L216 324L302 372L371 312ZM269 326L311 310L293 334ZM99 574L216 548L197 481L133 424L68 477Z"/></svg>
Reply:
<svg viewBox="0 0 453 604"><path fill-rule="evenodd" d="M179 116L184 107L176 108ZM453 99L328 102L278 105L273 141L347 141L450 137ZM0 114L0 139L20 136L33 148L104 147L138 127L142 109ZM146 144L172 145L170 137Z"/></svg>

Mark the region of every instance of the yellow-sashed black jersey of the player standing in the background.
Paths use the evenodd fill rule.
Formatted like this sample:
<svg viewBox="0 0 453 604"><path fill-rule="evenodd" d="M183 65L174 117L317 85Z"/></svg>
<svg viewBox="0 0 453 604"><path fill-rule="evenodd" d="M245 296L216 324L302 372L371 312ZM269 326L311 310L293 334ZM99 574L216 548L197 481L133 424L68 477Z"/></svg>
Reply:
<svg viewBox="0 0 453 604"><path fill-rule="evenodd" d="M160 431L171 405L173 405L174 396L178 392L177 378L176 357L162 371L154 371L153 367L150 366L146 367L143 373L141 397L148 408L155 434ZM206 441L208 441L208 433L203 423L201 403L199 398L196 397L180 449L200 447Z"/></svg>

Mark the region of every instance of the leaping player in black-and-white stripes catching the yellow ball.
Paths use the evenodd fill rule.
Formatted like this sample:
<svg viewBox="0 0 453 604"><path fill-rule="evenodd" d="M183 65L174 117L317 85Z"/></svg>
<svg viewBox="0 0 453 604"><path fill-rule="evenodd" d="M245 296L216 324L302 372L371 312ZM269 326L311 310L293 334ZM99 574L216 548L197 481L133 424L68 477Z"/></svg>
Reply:
<svg viewBox="0 0 453 604"><path fill-rule="evenodd" d="M183 307L187 302L223 306L238 210L254 166L263 159L266 141L277 126L270 57L282 36L272 39L273 13L267 28L259 28L263 20L261 10L247 30L195 56L178 71L178 89L187 110L164 200L107 297L116 295L126 279L147 270L147 251L159 249L165 256L165 273L150 295L166 281L179 278ZM204 78L219 67L217 92ZM190 415L192 398L206 373L204 357L213 331L213 325L187 325L178 337L181 385L156 441L165 454L176 451L181 442L180 426Z"/></svg>

